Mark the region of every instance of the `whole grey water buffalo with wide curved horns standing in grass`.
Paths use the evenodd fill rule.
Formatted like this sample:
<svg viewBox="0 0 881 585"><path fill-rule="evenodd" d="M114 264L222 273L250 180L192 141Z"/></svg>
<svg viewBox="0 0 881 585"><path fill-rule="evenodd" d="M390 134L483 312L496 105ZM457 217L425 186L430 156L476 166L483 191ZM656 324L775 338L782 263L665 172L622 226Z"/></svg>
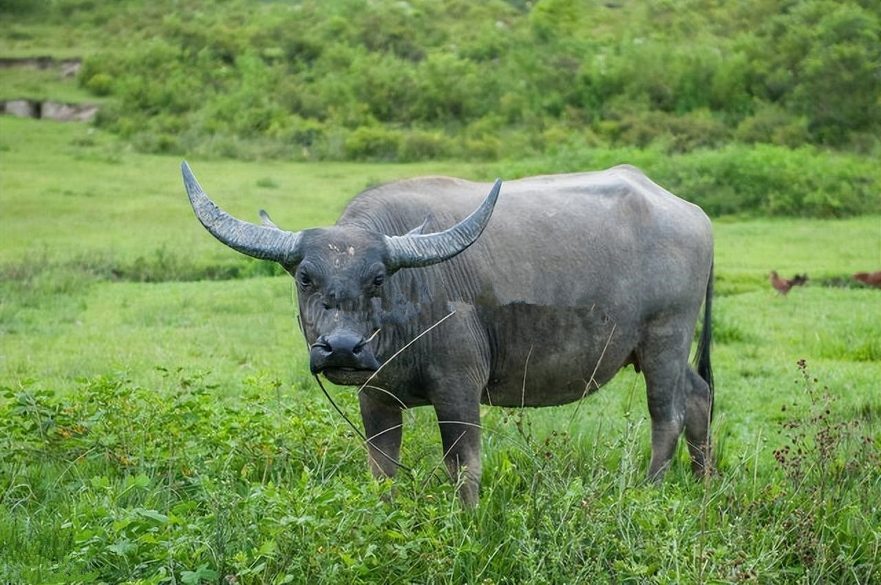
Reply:
<svg viewBox="0 0 881 585"><path fill-rule="evenodd" d="M186 162L182 172L211 234L291 273L312 372L362 387L375 477L395 473L402 409L431 404L448 470L474 504L480 404L566 404L626 365L648 387L649 478L683 428L692 469L709 467L712 228L638 169L509 181L501 196L501 181L396 181L302 232L263 211L263 225L233 218Z"/></svg>

